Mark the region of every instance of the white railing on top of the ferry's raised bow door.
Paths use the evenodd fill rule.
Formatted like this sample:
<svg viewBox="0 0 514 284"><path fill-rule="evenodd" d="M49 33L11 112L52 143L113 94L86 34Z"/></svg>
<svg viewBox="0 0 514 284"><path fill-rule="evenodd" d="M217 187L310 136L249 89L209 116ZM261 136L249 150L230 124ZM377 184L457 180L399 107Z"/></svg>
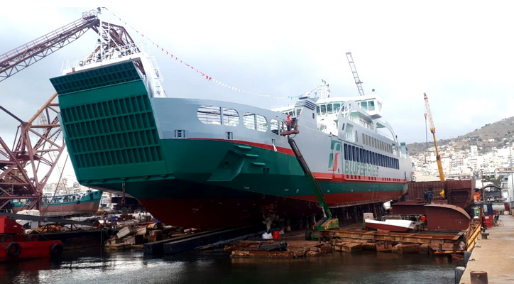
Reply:
<svg viewBox="0 0 514 284"><path fill-rule="evenodd" d="M146 43L131 43L117 48L111 48L109 50L101 50L98 53L89 53L88 55L62 61L61 73L70 72L74 70L74 68L80 68L98 62L120 60L121 58L133 56L138 53L148 54L148 50L148 45Z"/></svg>

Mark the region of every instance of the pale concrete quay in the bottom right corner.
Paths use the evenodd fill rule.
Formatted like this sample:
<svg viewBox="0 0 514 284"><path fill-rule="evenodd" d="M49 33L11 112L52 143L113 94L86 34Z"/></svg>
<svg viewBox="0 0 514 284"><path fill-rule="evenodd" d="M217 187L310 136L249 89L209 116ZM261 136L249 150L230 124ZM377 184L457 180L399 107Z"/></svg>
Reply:
<svg viewBox="0 0 514 284"><path fill-rule="evenodd" d="M514 283L514 216L501 215L500 220L503 226L488 228L487 239L476 242L460 284L471 284L471 271L485 271L488 284Z"/></svg>

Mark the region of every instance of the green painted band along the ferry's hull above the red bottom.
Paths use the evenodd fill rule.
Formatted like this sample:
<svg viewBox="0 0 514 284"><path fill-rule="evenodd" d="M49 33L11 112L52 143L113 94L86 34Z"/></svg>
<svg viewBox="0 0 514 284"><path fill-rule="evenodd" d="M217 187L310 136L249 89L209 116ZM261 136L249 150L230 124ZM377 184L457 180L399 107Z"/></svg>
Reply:
<svg viewBox="0 0 514 284"><path fill-rule="evenodd" d="M193 198L197 194L194 187L202 186L282 197L313 194L309 179L292 155L255 146L243 151L237 147L241 144L232 141L166 139L160 141L160 144L168 169L167 175L139 176L125 181L113 177L103 182L91 180L87 185L111 184L111 189L121 190L121 182L126 182L127 192L134 197L146 199ZM254 155L258 158L254 158ZM256 162L265 165L256 166ZM189 183L186 186L184 182ZM406 186L405 183L393 182L330 181L319 181L319 185L324 193L377 192L378 197L380 192L403 191ZM220 193L214 190L212 197L219 197Z"/></svg>

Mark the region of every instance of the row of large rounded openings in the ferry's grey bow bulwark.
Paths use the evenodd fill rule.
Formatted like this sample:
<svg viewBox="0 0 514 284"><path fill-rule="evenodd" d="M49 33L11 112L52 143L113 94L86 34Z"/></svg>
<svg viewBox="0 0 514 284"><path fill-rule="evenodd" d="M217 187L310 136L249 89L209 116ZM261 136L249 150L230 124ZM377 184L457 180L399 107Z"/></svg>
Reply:
<svg viewBox="0 0 514 284"><path fill-rule="evenodd" d="M197 117L203 124L239 126L239 112L235 109L215 106L202 106L197 111ZM261 132L268 130L268 121L261 114L253 114L246 112L243 115L243 124L247 129L253 129ZM270 120L270 130L278 134L278 120Z"/></svg>

